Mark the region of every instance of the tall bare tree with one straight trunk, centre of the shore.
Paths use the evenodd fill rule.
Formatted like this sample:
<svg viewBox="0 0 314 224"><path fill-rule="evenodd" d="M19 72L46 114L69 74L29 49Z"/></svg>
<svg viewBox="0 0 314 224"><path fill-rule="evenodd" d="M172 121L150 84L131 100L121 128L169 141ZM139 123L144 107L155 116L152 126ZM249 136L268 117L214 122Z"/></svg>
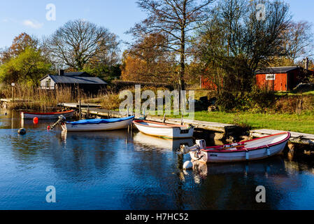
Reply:
<svg viewBox="0 0 314 224"><path fill-rule="evenodd" d="M185 89L185 61L192 31L208 18L208 5L214 0L139 0L138 6L148 18L136 24L129 33L134 36L162 34L166 48L180 57L178 84Z"/></svg>

